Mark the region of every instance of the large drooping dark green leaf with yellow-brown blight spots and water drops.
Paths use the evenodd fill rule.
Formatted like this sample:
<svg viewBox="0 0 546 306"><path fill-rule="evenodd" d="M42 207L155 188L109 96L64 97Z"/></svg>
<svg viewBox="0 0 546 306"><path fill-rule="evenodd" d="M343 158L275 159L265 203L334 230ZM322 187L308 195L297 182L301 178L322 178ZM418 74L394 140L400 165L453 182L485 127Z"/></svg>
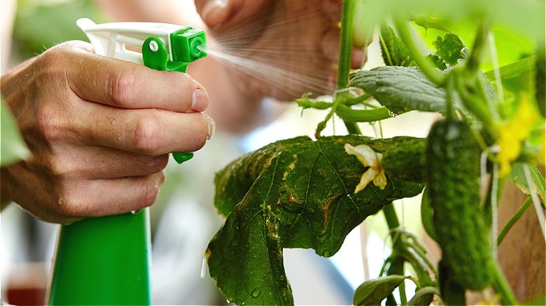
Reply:
<svg viewBox="0 0 546 306"><path fill-rule="evenodd" d="M228 216L207 249L211 276L237 304L292 304L283 248L332 256L360 222L422 184L387 176L385 189L353 190L366 168L344 144L385 152L405 138L364 136L281 140L242 156L217 173L215 205Z"/></svg>

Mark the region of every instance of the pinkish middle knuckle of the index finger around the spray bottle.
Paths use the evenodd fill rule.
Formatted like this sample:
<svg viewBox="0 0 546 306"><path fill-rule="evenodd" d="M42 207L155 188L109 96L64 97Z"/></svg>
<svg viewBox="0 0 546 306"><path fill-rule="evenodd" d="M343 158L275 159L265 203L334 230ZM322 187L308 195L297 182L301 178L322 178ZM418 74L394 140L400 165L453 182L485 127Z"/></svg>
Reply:
<svg viewBox="0 0 546 306"><path fill-rule="evenodd" d="M135 89L134 68L128 67L120 71L112 71L106 75L106 99L113 105L127 106L130 104Z"/></svg>

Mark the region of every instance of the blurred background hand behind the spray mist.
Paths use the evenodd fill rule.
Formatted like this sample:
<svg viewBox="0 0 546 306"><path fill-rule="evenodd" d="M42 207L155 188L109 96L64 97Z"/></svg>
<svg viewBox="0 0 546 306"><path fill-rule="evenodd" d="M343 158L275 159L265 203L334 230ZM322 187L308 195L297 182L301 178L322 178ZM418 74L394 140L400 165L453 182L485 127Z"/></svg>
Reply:
<svg viewBox="0 0 546 306"><path fill-rule="evenodd" d="M304 92L331 94L339 59L340 0L196 0L214 34L217 55L231 64L247 92L294 99ZM211 53L214 55L214 53ZM351 65L364 59L353 50Z"/></svg>

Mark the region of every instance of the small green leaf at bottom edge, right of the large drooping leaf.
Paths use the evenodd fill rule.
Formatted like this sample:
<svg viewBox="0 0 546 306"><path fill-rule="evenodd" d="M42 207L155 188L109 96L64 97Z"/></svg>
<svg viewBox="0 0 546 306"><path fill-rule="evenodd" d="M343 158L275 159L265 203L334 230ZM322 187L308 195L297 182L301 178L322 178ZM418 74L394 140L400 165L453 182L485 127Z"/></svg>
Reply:
<svg viewBox="0 0 546 306"><path fill-rule="evenodd" d="M353 305L380 305L406 278L404 275L388 275L363 282L354 292Z"/></svg>

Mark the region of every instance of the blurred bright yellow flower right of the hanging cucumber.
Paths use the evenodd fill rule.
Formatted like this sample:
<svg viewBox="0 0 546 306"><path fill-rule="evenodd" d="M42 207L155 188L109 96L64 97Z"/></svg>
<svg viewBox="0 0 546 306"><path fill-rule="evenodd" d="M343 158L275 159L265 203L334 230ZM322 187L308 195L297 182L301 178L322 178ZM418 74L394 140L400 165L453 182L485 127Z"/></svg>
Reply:
<svg viewBox="0 0 546 306"><path fill-rule="evenodd" d="M500 126L497 145L500 151L497 154L499 164L499 176L510 174L512 162L521 153L521 147L531 133L533 122L538 119L538 114L531 108L527 94L521 94L521 102L517 114L511 122Z"/></svg>

